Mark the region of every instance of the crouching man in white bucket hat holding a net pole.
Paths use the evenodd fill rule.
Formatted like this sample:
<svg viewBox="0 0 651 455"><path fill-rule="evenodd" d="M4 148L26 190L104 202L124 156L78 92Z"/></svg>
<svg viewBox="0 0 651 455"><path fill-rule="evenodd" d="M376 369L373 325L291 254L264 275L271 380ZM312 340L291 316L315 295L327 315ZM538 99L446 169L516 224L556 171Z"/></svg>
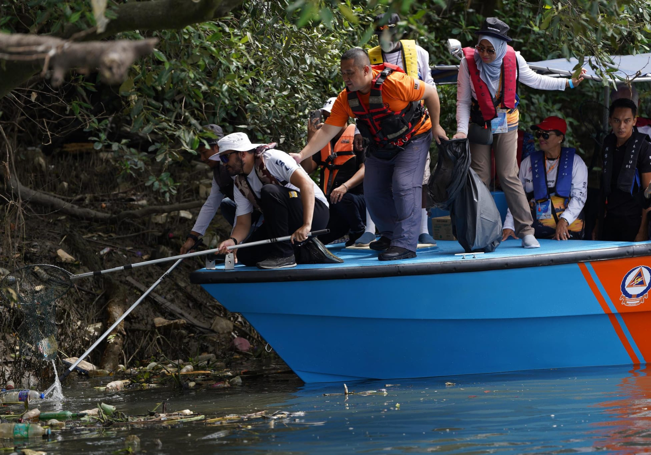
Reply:
<svg viewBox="0 0 651 455"><path fill-rule="evenodd" d="M292 240L273 242L238 252L240 263L258 268L288 268L296 263L339 263L323 244L307 234L325 229L329 213L326 196L309 175L275 144L252 144L245 133L232 133L217 143L221 160L235 177L237 222L231 237L219 244L219 252L249 241L291 235ZM264 214L264 223L249 236L254 208ZM305 242L307 240L307 242ZM300 242L305 242L300 244Z"/></svg>

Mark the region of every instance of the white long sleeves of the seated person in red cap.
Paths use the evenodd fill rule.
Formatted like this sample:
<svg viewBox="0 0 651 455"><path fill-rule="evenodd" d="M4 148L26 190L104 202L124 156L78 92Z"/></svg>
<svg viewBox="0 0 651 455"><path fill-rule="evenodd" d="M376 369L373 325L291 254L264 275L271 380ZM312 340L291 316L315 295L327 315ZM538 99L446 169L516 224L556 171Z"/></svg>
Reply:
<svg viewBox="0 0 651 455"><path fill-rule="evenodd" d="M559 158L551 161L546 160L547 170L547 188L553 188L556 185L556 177L559 174ZM553 168L551 168L553 166ZM551 168L551 170L550 170ZM525 193L533 191L533 172L531 172L531 155L522 160L519 172L520 181L525 188ZM568 224L574 223L587 198L588 191L588 167L585 162L579 157L574 155L574 164L572 164L572 187L570 187L570 201L565 211L561 214L561 218L565 218ZM533 198L531 199L533 200ZM506 219L504 220L503 229L514 229L513 216L510 210L506 211Z"/></svg>

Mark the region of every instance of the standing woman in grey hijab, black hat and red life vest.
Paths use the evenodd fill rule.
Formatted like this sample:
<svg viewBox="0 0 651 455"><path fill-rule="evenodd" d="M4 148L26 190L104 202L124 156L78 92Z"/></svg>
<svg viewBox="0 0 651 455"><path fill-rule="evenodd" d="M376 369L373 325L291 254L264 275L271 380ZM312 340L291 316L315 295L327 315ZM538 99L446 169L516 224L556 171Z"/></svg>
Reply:
<svg viewBox="0 0 651 455"><path fill-rule="evenodd" d="M541 90L565 90L583 81L547 77L534 73L519 52L507 43L508 25L487 18L478 44L464 48L457 82L456 135L468 138L472 168L486 186L491 179L491 147L495 151L497 177L513 216L516 235L524 248L538 248L529 203L518 179L518 95L517 84ZM582 74L585 70L582 71Z"/></svg>

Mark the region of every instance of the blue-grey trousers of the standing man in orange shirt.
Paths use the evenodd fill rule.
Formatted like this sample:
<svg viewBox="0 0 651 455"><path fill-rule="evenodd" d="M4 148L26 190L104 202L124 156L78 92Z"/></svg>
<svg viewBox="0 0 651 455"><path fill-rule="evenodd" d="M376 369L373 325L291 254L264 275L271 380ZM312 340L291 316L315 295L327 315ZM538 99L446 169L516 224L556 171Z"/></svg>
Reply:
<svg viewBox="0 0 651 455"><path fill-rule="evenodd" d="M432 133L410 140L395 157L365 162L364 198L368 213L391 246L415 252L421 231L422 176Z"/></svg>

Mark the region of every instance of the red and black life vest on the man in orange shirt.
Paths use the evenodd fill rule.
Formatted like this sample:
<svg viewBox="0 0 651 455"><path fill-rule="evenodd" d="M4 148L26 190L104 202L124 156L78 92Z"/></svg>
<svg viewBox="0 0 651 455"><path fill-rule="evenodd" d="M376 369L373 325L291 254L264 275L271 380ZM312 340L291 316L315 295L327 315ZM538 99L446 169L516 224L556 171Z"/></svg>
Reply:
<svg viewBox="0 0 651 455"><path fill-rule="evenodd" d="M421 105L421 101L411 101L400 111L389 109L382 99L382 85L393 72L402 68L389 63L371 66L380 73L373 79L368 96L368 109L357 97L357 92L348 92L348 106L355 114L357 127L362 136L370 140L377 149L402 148L426 122L429 114ZM416 83L424 84L422 81Z"/></svg>

